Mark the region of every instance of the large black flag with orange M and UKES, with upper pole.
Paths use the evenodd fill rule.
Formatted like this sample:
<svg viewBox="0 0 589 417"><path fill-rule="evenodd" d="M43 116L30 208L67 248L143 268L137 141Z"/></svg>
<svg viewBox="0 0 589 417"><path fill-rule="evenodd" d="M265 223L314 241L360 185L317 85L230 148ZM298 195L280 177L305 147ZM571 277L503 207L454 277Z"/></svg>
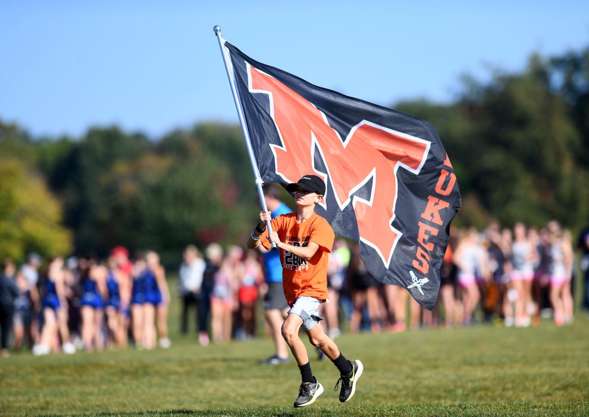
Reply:
<svg viewBox="0 0 589 417"><path fill-rule="evenodd" d="M327 191L317 214L358 242L373 277L407 288L431 310L461 206L434 126L255 61L223 40L220 27L214 32L263 209L263 182L319 176Z"/></svg>

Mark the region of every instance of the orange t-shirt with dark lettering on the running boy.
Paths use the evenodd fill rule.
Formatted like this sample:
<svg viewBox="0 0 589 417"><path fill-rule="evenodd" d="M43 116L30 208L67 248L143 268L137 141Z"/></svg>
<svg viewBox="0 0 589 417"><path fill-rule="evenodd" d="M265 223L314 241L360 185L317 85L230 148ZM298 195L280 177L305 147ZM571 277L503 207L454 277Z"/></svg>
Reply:
<svg viewBox="0 0 589 417"><path fill-rule="evenodd" d="M296 213L283 214L272 219L272 230L276 231L281 242L293 246L306 247L315 242L319 249L309 260L280 249L282 262L282 289L289 306L297 297L327 299L327 260L331 252L335 234L326 219L313 213L309 219L298 224ZM266 249L271 245L268 234L263 234L260 243Z"/></svg>

